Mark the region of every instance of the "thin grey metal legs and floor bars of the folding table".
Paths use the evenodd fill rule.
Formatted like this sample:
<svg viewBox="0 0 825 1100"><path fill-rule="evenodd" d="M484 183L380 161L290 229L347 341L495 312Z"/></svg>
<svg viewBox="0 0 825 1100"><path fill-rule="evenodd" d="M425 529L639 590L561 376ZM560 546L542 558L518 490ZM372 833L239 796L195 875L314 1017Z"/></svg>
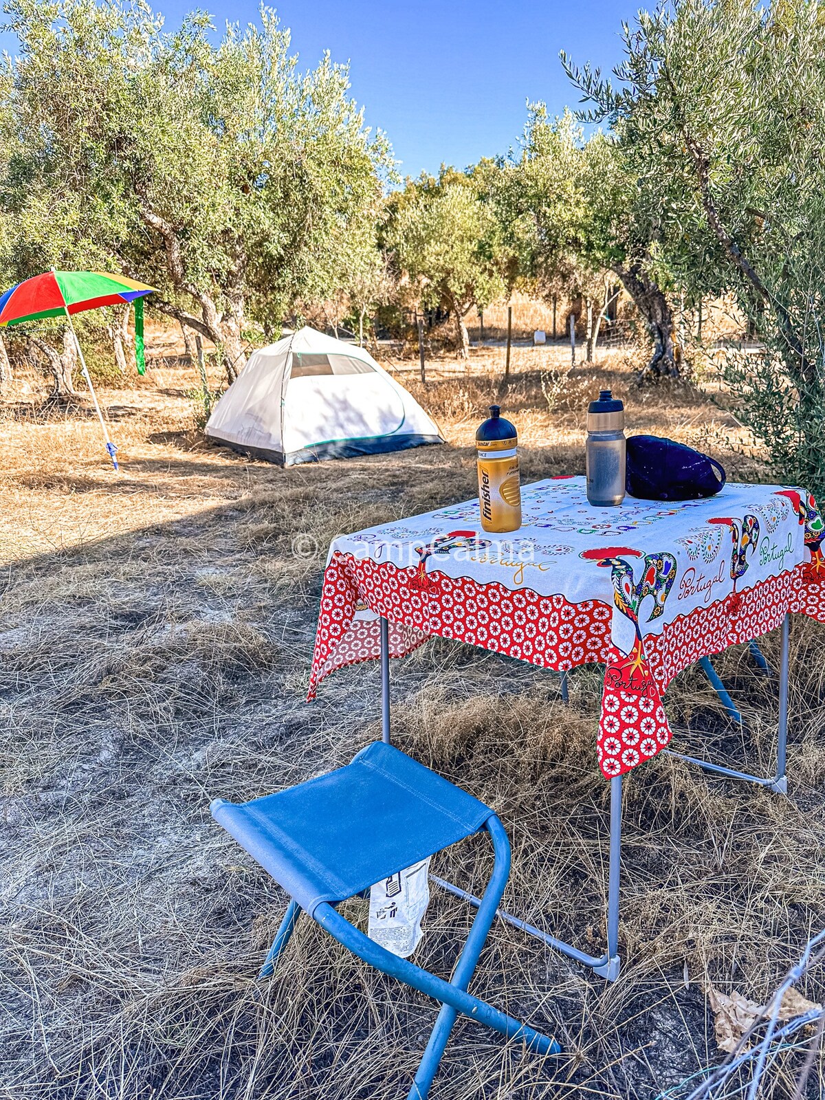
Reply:
<svg viewBox="0 0 825 1100"><path fill-rule="evenodd" d="M756 783L758 787L765 787L772 791L778 791L781 794L785 794L788 792L788 780L785 777L785 746L788 741L788 628L789 616L785 615L781 627L782 652L779 672L779 734L777 741L777 772L773 777L765 778L761 776L751 776L746 771L738 771L735 768L727 768L723 765L712 763L707 760L700 760L697 757L685 756L682 752L674 752L671 749L663 749L662 751L668 752L670 756L676 757L680 760L684 760L686 763L696 765L712 774L725 776L729 779L745 780L749 783ZM763 673L771 675L771 670L755 641L750 642L750 651L760 670ZM719 695L719 698L725 705L726 712L741 724L741 715L734 706L730 695L725 690L725 686L711 664L710 659L703 657L698 663ZM566 673L563 672L561 676L562 698L566 702ZM381 736L382 740L389 744L389 625L383 617L381 618ZM622 867L622 776L616 776L610 780L609 859L607 870L607 945L604 955L588 955L586 952L580 950L578 947L565 943L563 939L557 939L556 936L551 936L548 933L542 932L535 925L528 924L526 921L520 920L518 916L514 916L512 913L505 912L503 909L496 910L496 915L502 921L513 925L514 928L520 928L520 931L527 933L528 936L535 936L537 939L547 944L548 947L552 947L554 950L561 952L562 955L566 955L568 958L573 959L575 963L581 963L583 966L590 967L594 974L598 975L601 978L606 978L607 981L615 981L619 974L618 928L619 872ZM480 898L468 893L468 891L462 890L461 887L457 887L452 882L448 882L446 879L440 879L435 875L431 875L430 879L442 889L449 891L451 894L454 894L457 898L463 899L476 909L481 905Z"/></svg>

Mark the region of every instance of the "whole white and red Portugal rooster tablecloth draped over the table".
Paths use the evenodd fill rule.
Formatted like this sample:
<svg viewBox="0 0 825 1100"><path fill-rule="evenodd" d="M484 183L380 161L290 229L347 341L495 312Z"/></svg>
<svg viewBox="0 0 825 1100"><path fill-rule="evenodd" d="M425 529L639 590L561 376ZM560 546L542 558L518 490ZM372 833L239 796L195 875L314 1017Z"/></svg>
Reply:
<svg viewBox="0 0 825 1100"><path fill-rule="evenodd" d="M703 501L587 503L583 477L522 491L522 526L488 535L472 501L337 538L309 697L344 664L440 635L564 671L605 664L597 754L607 778L671 737L661 694L700 657L779 626L825 622L823 519L802 488L728 484Z"/></svg>

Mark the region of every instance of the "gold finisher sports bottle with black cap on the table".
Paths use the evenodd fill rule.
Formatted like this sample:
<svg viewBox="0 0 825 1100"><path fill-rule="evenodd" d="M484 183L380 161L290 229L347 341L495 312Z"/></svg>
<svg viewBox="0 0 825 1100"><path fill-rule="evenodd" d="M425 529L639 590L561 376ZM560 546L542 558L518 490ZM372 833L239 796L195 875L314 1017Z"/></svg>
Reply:
<svg viewBox="0 0 825 1100"><path fill-rule="evenodd" d="M518 481L518 437L497 405L475 433L479 455L479 508L485 531L504 534L521 526L521 490Z"/></svg>

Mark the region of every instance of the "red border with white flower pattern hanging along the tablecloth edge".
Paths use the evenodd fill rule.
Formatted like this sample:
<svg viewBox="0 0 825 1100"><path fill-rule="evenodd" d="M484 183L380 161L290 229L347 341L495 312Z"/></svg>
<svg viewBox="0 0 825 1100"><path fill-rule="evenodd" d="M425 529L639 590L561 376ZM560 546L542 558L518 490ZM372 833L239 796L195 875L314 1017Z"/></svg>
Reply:
<svg viewBox="0 0 825 1100"><path fill-rule="evenodd" d="M642 639L641 659L628 669L629 658L610 642L607 604L571 604L561 595L480 584L440 571L428 574L421 587L416 569L336 553L323 575L309 698L331 672L378 657L378 623L358 618L360 607L388 620L393 657L440 636L557 671L603 662L597 756L603 774L613 778L670 741L661 693L682 669L774 629L788 612L825 623L825 573L800 564L679 616Z"/></svg>

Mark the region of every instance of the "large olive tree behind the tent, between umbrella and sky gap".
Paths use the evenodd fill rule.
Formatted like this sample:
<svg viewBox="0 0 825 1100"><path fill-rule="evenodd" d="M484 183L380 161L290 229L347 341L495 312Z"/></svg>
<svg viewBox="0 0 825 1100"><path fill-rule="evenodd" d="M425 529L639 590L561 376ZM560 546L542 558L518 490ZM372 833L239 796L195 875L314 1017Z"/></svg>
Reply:
<svg viewBox="0 0 825 1100"><path fill-rule="evenodd" d="M7 12L20 51L6 61L15 151L2 189L31 230L28 264L87 243L87 257L156 286L153 306L212 340L234 377L248 328L330 294L373 232L392 157L346 69L324 55L299 72L266 8L217 44L204 13L167 33L129 0Z"/></svg>

